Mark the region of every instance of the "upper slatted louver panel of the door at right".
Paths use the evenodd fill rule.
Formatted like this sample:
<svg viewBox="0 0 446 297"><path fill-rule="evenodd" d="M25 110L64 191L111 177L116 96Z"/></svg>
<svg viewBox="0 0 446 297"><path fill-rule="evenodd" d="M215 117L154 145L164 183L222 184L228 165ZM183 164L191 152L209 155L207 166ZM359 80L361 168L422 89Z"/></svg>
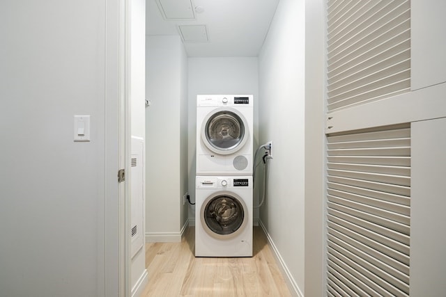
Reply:
<svg viewBox="0 0 446 297"><path fill-rule="evenodd" d="M410 1L328 0L328 111L410 90Z"/></svg>

